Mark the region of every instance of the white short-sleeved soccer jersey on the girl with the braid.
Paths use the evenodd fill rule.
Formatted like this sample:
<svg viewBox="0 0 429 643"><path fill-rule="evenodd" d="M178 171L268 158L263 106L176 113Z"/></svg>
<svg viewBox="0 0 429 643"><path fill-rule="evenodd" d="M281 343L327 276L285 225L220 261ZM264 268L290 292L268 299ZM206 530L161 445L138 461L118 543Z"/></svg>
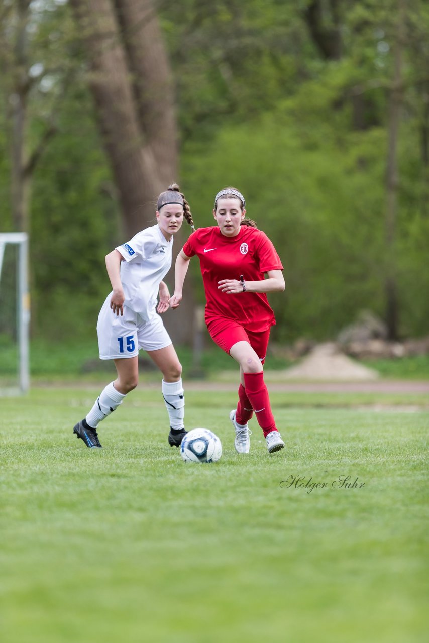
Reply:
<svg viewBox="0 0 429 643"><path fill-rule="evenodd" d="M149 321L156 315L160 282L171 267L172 246L173 238L167 241L156 224L116 248L125 259L120 269L125 294L123 305L143 320Z"/></svg>

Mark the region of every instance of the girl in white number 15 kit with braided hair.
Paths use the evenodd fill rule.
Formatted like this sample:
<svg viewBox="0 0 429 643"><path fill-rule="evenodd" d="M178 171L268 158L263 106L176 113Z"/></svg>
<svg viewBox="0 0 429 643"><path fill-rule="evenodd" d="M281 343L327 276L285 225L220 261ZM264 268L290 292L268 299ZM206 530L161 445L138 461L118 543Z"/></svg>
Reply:
<svg viewBox="0 0 429 643"><path fill-rule="evenodd" d="M170 419L170 446L180 446L187 433L183 424L185 396L181 364L160 315L169 309L170 294L163 278L171 266L173 236L183 217L194 230L189 205L176 183L160 194L156 225L138 232L105 258L113 291L98 316L100 359L113 359L116 379L105 386L73 433L89 448L101 448L97 428L138 384L138 351L147 354L163 374L161 385ZM157 298L160 298L158 308Z"/></svg>

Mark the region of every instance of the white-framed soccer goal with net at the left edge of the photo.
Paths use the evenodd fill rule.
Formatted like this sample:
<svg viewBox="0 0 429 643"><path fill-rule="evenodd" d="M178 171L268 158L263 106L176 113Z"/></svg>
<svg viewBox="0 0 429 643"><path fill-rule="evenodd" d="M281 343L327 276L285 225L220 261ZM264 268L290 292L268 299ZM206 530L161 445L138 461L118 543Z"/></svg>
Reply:
<svg viewBox="0 0 429 643"><path fill-rule="evenodd" d="M0 233L0 395L25 393L30 385L28 239Z"/></svg>

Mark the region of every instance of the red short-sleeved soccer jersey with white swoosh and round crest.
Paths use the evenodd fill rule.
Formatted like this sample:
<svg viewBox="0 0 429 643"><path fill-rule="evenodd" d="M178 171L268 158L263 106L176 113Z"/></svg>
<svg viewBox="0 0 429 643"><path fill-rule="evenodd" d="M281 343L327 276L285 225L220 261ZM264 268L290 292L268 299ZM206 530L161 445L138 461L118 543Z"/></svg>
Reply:
<svg viewBox="0 0 429 643"><path fill-rule="evenodd" d="M241 226L236 237L226 237L217 226L199 228L183 246L188 257L197 255L206 291L206 323L226 318L244 329L266 331L275 324L265 293L226 294L218 289L221 279L262 281L269 270L282 270L282 262L267 235Z"/></svg>

